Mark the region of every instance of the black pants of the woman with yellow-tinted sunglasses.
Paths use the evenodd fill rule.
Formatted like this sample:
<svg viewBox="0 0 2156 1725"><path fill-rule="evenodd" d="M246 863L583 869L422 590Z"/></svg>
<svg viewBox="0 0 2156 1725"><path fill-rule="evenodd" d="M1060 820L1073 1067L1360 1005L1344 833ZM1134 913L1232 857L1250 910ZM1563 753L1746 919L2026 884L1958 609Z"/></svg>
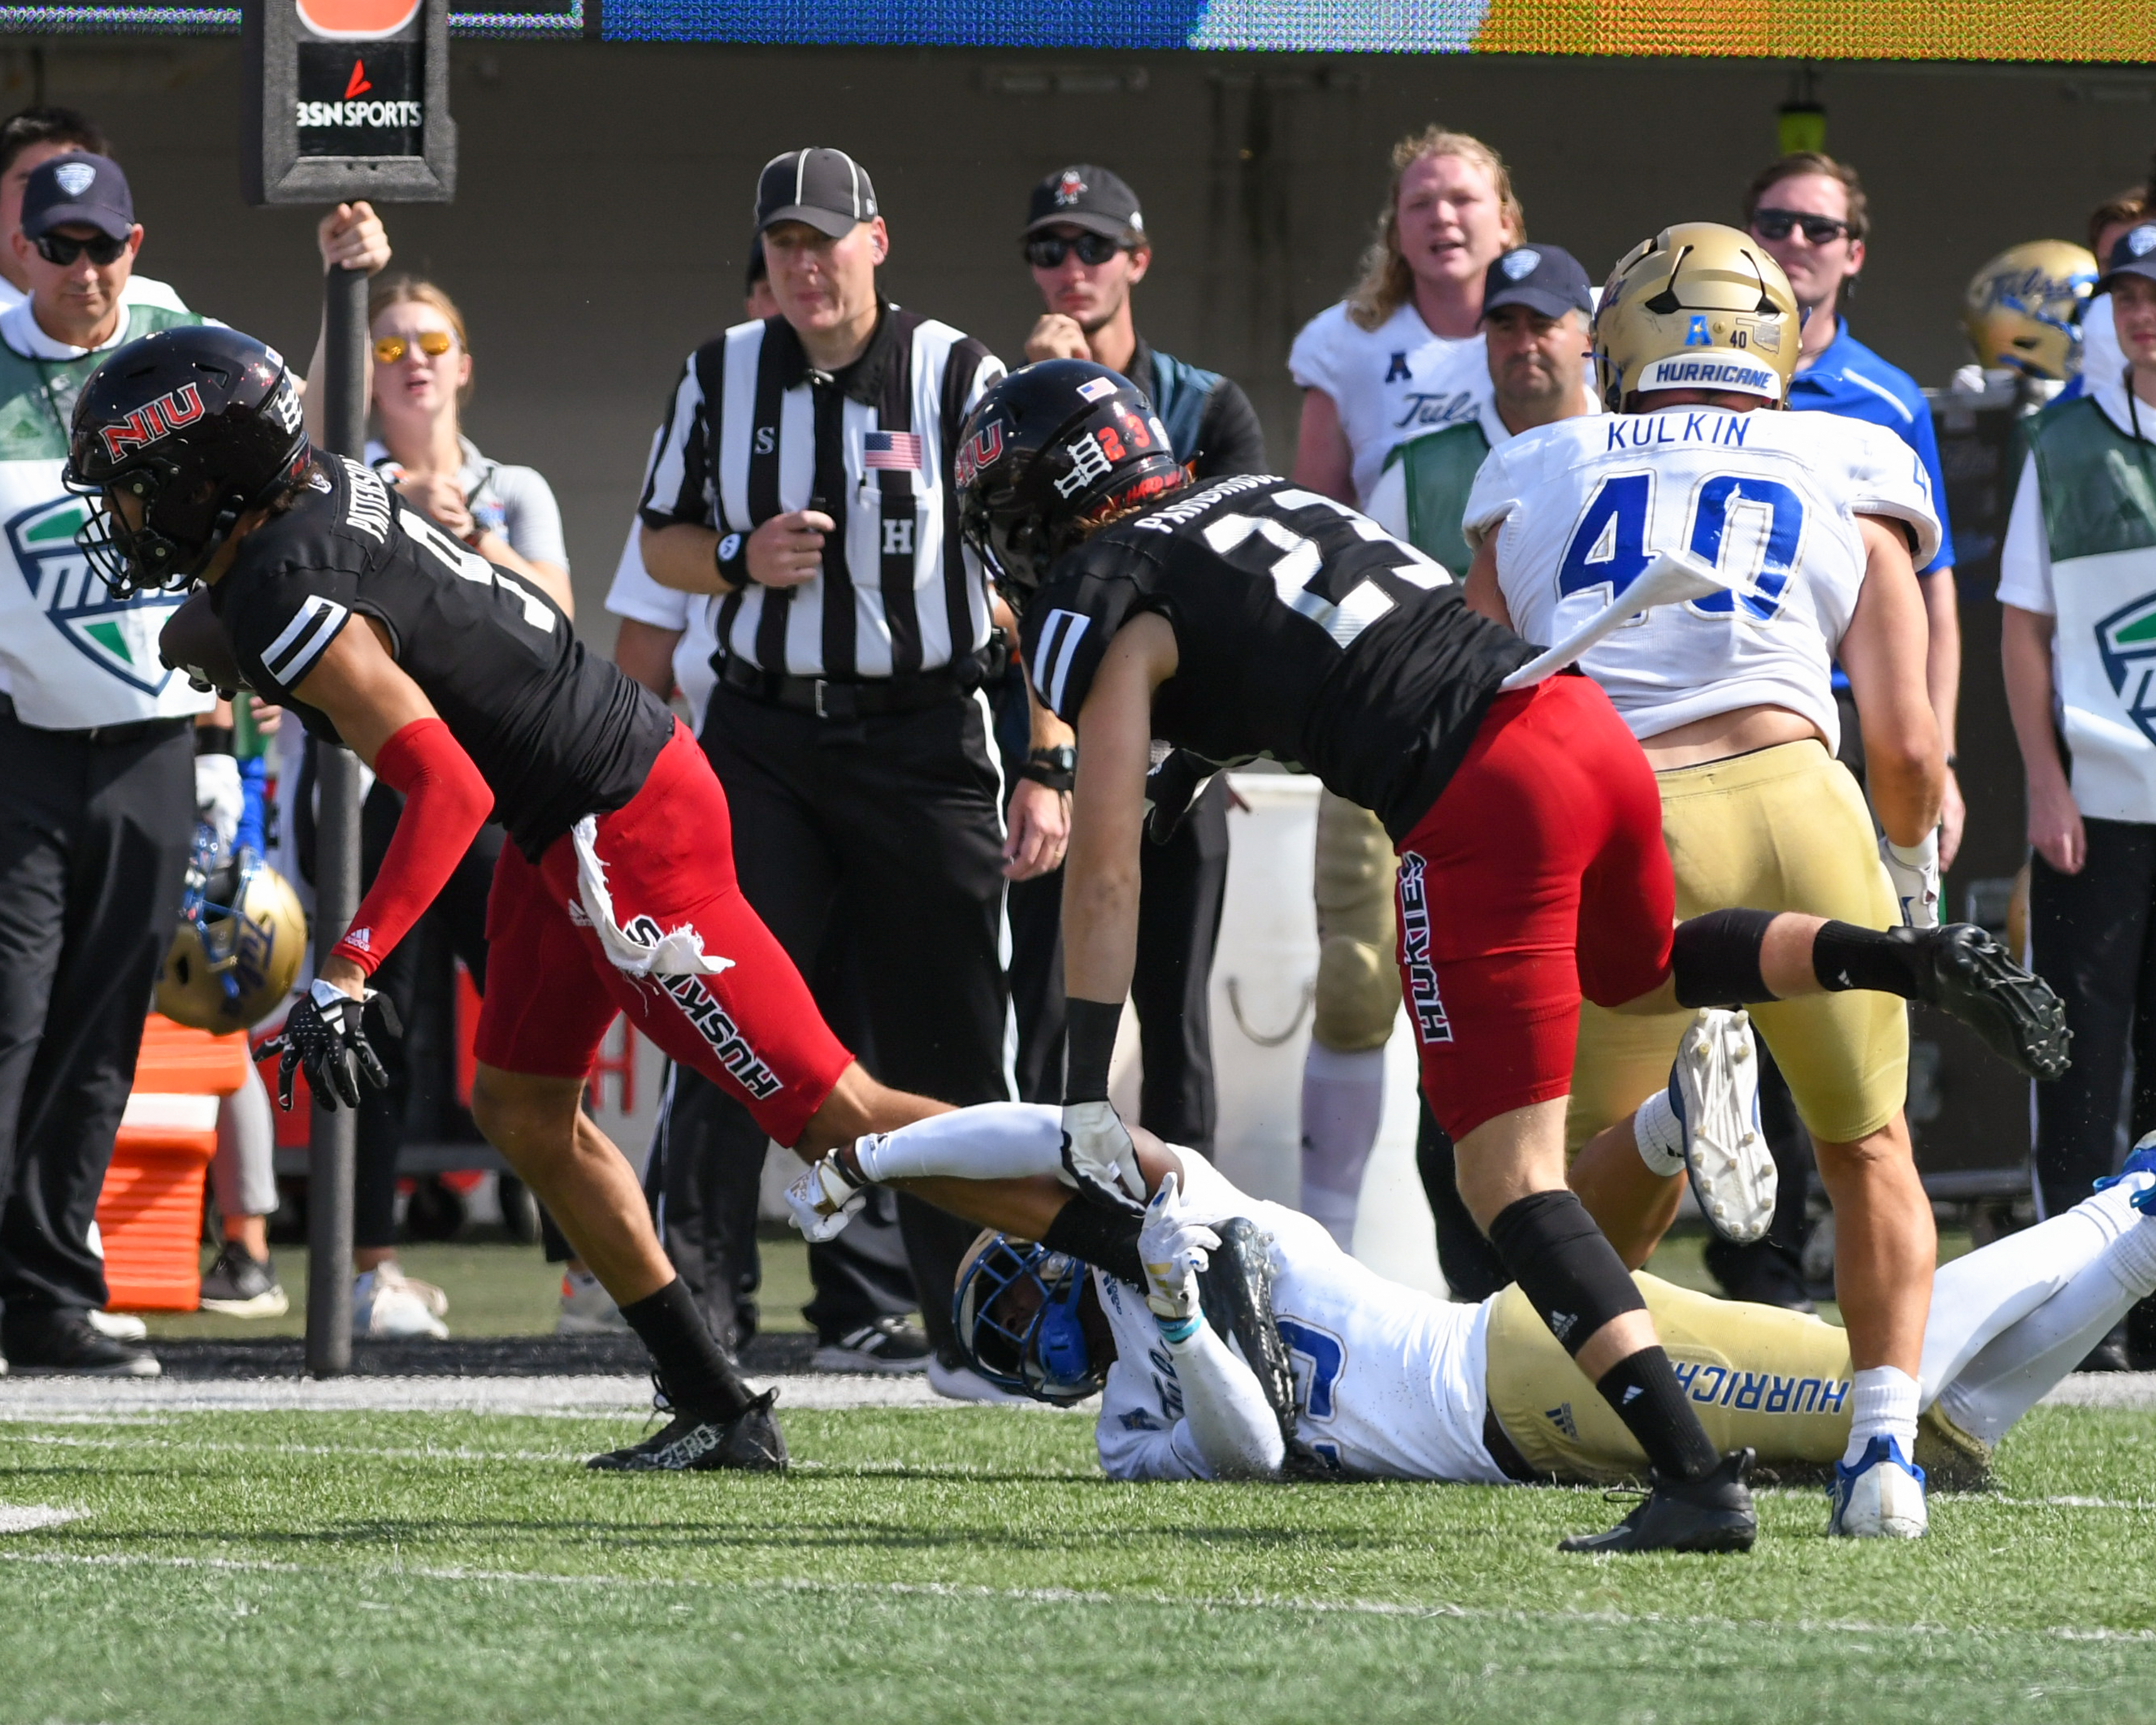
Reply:
<svg viewBox="0 0 2156 1725"><path fill-rule="evenodd" d="M373 886L382 869L401 815L403 798L375 781L360 806L360 865L367 886ZM427 914L369 979L369 988L395 1003L405 1035L377 1041L390 1082L388 1089L369 1089L360 1098L351 1190L351 1244L360 1251L397 1244L397 1151L412 1119L412 1037L418 1029L425 970L446 968L451 960L461 957L464 968L472 972L472 985L481 994L487 992L487 891L494 886L494 862L505 841L507 834L498 824L487 822L479 828L479 837Z"/></svg>

